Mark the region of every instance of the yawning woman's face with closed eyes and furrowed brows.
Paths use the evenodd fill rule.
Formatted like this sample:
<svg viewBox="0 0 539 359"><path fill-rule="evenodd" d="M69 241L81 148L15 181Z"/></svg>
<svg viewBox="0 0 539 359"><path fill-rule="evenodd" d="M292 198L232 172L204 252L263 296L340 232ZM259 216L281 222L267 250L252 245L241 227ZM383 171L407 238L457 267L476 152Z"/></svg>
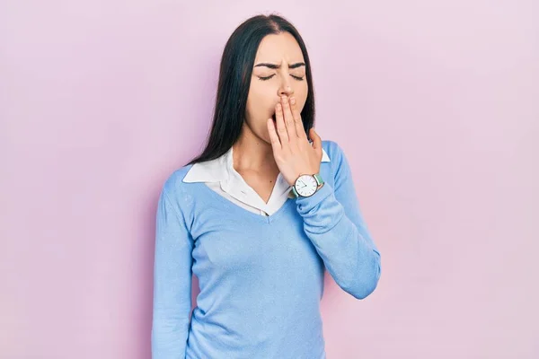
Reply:
<svg viewBox="0 0 539 359"><path fill-rule="evenodd" d="M296 39L288 32L262 39L252 68L245 125L255 136L271 144L267 120L275 119L275 105L280 96L294 96L301 112L307 93L305 60Z"/></svg>

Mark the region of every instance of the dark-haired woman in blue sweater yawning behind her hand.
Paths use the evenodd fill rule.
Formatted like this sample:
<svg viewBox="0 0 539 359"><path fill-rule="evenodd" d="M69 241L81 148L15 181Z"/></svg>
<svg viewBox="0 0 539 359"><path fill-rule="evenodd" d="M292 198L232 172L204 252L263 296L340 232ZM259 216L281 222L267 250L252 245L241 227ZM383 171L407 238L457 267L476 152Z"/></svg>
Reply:
<svg viewBox="0 0 539 359"><path fill-rule="evenodd" d="M358 299L375 290L380 253L349 163L313 124L296 28L277 15L243 22L221 59L206 149L159 198L154 359L325 358L324 269Z"/></svg>

